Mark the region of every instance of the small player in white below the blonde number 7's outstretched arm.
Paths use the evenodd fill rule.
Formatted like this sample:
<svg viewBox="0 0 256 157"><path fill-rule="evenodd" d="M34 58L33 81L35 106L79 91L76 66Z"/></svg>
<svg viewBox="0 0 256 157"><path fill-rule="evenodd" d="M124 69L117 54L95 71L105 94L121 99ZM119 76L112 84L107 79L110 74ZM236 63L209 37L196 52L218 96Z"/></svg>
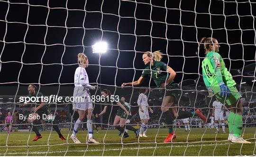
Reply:
<svg viewBox="0 0 256 157"><path fill-rule="evenodd" d="M147 124L148 124L148 120L149 120L149 114L148 114L148 109L150 110L151 113L153 113L154 111L148 106L147 103L147 97L146 97L146 93L147 93L147 89L145 88L141 88L139 90L140 94L138 96L138 107L139 107L139 117L141 119L141 126L139 129L139 136L140 137L147 137L146 136L146 131L147 131Z"/></svg>

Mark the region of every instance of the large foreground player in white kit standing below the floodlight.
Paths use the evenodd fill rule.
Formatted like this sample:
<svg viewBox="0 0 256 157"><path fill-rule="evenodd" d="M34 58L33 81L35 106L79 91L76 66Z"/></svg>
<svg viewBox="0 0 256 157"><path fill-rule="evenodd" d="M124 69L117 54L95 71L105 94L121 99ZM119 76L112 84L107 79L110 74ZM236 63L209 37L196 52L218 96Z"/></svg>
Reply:
<svg viewBox="0 0 256 157"><path fill-rule="evenodd" d="M99 143L93 138L93 126L92 126L92 102L90 99L90 91L95 90L94 86L89 84L88 74L85 68L88 67L89 59L83 53L77 55L79 67L76 68L74 74L74 92L73 97L73 110L77 111L79 118L76 120L73 128L73 133L70 136L74 143L81 143L77 138L76 134L80 124L83 122L85 116L87 116L87 129L88 129L88 143ZM88 97L89 96L89 97ZM80 99L80 98L82 99ZM79 99L78 99L79 98Z"/></svg>

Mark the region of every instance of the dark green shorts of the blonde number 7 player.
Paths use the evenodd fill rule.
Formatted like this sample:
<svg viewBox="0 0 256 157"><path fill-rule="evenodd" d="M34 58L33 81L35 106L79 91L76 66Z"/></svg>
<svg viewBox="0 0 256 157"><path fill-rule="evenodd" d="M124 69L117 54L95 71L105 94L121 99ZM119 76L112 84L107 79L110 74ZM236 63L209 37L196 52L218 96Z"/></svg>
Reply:
<svg viewBox="0 0 256 157"><path fill-rule="evenodd" d="M160 91L161 91L161 95L163 97L164 96L173 96L175 99L174 103L178 103L180 95L181 95L181 89L177 83L171 83L168 86L166 86L166 90L162 89Z"/></svg>

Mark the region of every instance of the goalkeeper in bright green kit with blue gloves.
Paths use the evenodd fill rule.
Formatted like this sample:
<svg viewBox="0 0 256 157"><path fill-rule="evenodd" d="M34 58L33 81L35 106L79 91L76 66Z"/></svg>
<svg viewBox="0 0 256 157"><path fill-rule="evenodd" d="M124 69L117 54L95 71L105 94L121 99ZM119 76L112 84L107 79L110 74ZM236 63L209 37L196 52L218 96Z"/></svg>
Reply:
<svg viewBox="0 0 256 157"><path fill-rule="evenodd" d="M206 57L202 61L202 75L205 86L224 105L228 105L229 140L233 143L251 143L241 136L243 121L242 97L236 88L236 82L225 67L219 52L219 42L215 38L202 38L201 46Z"/></svg>

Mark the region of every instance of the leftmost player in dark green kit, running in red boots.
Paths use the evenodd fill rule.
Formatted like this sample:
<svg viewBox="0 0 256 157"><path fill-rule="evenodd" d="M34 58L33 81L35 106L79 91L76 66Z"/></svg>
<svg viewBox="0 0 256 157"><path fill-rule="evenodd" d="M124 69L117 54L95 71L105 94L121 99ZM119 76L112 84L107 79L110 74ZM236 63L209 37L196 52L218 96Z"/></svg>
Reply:
<svg viewBox="0 0 256 157"><path fill-rule="evenodd" d="M42 98L43 97L43 93L41 92L38 92L37 91L37 86L34 85L34 84L29 84L28 88L27 88L27 91L28 91L28 97L36 97L36 98ZM45 102L44 101L41 101L41 99L38 99L37 102L33 102L33 103L30 103L30 102L27 102L27 104L23 104L23 105L20 105L20 107L26 107L27 105L31 104L33 107L32 107L32 113L30 114L31 116L27 118L27 123L31 123L33 124L33 122L35 120L37 120L36 118L34 117L37 117L37 116L40 116L40 118L43 117L43 115L47 115L48 117L52 117L52 114L51 112L49 111L48 107L45 105ZM48 119L48 123L49 124L55 124L54 121L52 119ZM55 132L58 133L59 135L59 138L61 140L66 140L63 135L61 134L60 132L60 129L58 127L58 125L52 125ZM42 135L39 133L38 129L37 129L37 126L36 125L32 125L32 130L37 134L37 136L33 139L33 141L36 141L38 139L41 139L42 138Z"/></svg>

